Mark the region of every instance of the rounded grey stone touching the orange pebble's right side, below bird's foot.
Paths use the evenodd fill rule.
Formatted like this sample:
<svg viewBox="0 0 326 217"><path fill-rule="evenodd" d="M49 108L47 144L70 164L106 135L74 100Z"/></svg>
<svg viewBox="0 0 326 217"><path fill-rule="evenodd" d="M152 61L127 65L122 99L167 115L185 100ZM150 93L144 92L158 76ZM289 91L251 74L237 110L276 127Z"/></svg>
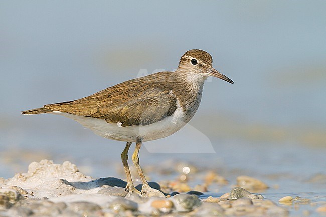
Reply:
<svg viewBox="0 0 326 217"><path fill-rule="evenodd" d="M177 194L172 197L177 211L190 211L201 204L196 195Z"/></svg>

